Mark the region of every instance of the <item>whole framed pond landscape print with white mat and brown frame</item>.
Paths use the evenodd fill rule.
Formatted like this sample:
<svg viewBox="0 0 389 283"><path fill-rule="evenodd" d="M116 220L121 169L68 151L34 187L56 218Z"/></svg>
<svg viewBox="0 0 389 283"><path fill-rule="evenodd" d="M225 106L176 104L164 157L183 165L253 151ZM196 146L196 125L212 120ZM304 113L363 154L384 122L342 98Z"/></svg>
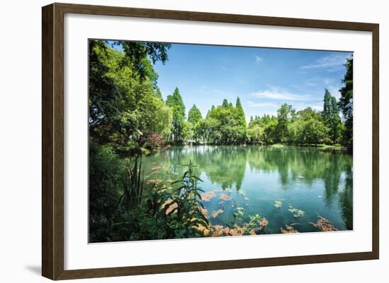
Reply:
<svg viewBox="0 0 389 283"><path fill-rule="evenodd" d="M42 8L42 275L379 255L378 24Z"/></svg>

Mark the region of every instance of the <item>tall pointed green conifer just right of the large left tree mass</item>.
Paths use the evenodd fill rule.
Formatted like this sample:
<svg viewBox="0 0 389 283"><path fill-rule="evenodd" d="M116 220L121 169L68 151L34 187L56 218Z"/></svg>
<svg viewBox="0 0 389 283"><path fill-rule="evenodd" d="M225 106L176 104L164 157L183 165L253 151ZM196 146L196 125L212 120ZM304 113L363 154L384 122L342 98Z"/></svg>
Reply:
<svg viewBox="0 0 389 283"><path fill-rule="evenodd" d="M172 140L176 143L182 141L182 128L185 123L185 104L178 88L175 88L173 95L168 95L166 99L168 107L173 109Z"/></svg>

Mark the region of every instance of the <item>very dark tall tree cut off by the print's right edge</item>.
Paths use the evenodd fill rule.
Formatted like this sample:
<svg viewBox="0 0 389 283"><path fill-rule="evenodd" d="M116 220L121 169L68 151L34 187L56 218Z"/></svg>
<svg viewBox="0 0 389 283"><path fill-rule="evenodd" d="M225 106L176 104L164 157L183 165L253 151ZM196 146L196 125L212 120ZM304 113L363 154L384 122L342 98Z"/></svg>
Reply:
<svg viewBox="0 0 389 283"><path fill-rule="evenodd" d="M346 64L346 73L342 79L344 86L339 90L340 99L339 99L339 109L342 111L344 118L345 131L343 133L343 143L349 147L349 150L352 151L352 141L353 141L353 57L347 59Z"/></svg>

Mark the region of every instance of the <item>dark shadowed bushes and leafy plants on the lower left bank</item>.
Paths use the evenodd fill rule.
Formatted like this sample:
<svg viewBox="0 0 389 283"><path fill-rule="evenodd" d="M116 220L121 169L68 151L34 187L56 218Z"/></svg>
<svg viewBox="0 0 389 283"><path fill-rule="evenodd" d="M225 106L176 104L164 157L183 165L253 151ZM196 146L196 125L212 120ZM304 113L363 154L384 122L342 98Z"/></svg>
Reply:
<svg viewBox="0 0 389 283"><path fill-rule="evenodd" d="M168 192L162 183L146 185L141 157L123 165L112 148L92 144L91 162L100 170L91 172L91 242L204 236L200 227L208 229L209 221L191 161Z"/></svg>

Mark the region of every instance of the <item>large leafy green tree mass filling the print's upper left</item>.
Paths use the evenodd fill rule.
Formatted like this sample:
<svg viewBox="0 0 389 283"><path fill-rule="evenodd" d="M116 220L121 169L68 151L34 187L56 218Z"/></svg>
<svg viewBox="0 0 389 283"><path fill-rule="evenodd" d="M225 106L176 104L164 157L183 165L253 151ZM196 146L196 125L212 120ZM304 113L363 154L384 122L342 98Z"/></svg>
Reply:
<svg viewBox="0 0 389 283"><path fill-rule="evenodd" d="M173 114L161 100L158 75L148 59L165 60L164 51L159 45L121 44L124 52L102 40L89 42L88 118L96 142L125 153L142 147L151 133L169 136Z"/></svg>

